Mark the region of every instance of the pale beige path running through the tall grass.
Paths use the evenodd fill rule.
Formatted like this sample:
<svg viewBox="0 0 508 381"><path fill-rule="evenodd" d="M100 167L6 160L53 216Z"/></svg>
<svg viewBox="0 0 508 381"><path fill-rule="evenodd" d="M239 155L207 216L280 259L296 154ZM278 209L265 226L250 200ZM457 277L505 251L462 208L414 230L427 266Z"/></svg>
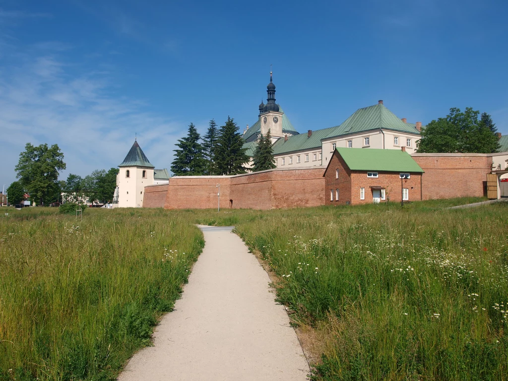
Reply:
<svg viewBox="0 0 508 381"><path fill-rule="evenodd" d="M309 368L270 279L232 227L200 226L205 248L154 346L120 381L298 381Z"/></svg>

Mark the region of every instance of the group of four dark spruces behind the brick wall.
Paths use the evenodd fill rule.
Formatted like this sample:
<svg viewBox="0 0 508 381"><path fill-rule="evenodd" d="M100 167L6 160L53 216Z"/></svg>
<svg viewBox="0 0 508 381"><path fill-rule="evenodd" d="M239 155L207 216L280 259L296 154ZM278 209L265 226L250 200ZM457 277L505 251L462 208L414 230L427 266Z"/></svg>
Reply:
<svg viewBox="0 0 508 381"><path fill-rule="evenodd" d="M196 126L190 123L187 136L176 143L178 148L174 150L175 160L171 163L171 171L177 176L238 175L276 167L270 132L259 138L252 168L247 166L250 157L246 154L244 144L238 126L229 116L220 127L214 119L210 120L203 138Z"/></svg>

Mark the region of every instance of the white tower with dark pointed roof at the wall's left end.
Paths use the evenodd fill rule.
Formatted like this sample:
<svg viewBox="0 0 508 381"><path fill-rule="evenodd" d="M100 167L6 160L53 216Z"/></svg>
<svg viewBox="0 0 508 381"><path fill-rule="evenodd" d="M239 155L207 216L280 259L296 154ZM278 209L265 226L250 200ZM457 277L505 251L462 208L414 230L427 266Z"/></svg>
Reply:
<svg viewBox="0 0 508 381"><path fill-rule="evenodd" d="M137 139L118 167L120 167L120 171L116 176L115 189L118 207L143 207L145 186L153 184L153 169L155 167L148 161Z"/></svg>

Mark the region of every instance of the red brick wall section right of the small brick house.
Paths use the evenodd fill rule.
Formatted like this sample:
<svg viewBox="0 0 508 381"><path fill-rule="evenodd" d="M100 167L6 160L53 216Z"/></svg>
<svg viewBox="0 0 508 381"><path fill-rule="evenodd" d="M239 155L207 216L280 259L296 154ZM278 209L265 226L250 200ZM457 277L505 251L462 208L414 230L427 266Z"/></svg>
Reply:
<svg viewBox="0 0 508 381"><path fill-rule="evenodd" d="M411 155L425 171L423 200L482 197L492 157L481 153L416 153Z"/></svg>

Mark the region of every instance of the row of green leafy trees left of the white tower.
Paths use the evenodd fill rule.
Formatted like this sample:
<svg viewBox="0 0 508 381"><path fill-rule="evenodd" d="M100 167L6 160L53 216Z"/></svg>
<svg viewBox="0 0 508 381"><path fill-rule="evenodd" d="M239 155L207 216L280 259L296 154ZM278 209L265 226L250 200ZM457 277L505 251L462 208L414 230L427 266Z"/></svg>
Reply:
<svg viewBox="0 0 508 381"><path fill-rule="evenodd" d="M63 153L57 144L34 146L26 143L25 150L19 154L19 162L15 167L16 177L7 188L11 204L19 204L28 194L37 205L49 205L61 201L65 193L66 201L78 202L87 197L100 203L110 202L116 187L117 168L95 170L81 178L69 174L66 181L58 180L58 172L66 169Z"/></svg>

